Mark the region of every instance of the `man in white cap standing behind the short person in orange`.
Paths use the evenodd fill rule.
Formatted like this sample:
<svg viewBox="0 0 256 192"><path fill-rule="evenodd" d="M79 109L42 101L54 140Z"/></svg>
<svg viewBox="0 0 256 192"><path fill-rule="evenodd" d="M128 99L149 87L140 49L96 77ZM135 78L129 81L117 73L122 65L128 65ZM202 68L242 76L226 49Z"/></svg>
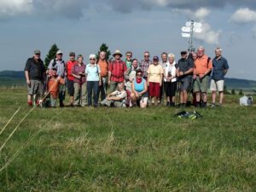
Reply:
<svg viewBox="0 0 256 192"><path fill-rule="evenodd" d="M56 58L51 60L49 62L49 76L51 76L51 69L55 67L57 69L57 75L58 77L64 79L65 77L65 61L62 60L62 51L58 50L56 53ZM60 84L59 86L59 101L60 101L60 107L64 107L63 101L65 100L65 84Z"/></svg>

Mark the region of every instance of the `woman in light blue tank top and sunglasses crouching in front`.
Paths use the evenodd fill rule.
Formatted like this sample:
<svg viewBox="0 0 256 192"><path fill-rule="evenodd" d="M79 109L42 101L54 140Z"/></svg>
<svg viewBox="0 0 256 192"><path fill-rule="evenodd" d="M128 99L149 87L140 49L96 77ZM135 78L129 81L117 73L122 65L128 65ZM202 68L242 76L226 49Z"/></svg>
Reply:
<svg viewBox="0 0 256 192"><path fill-rule="evenodd" d="M147 81L143 79L143 72L140 69L136 72L136 79L132 81L131 91L131 101L133 104L137 105L137 102L139 102L140 108L147 108L148 84Z"/></svg>

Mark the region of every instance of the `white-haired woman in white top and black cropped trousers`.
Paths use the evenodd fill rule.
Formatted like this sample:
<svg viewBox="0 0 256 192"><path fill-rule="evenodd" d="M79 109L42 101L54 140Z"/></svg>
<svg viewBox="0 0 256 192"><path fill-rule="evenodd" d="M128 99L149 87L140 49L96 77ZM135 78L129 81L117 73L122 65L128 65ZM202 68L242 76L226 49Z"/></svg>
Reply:
<svg viewBox="0 0 256 192"><path fill-rule="evenodd" d="M177 89L176 61L175 55L168 55L169 62L164 70L164 81L166 90L166 106L175 107L175 92Z"/></svg>

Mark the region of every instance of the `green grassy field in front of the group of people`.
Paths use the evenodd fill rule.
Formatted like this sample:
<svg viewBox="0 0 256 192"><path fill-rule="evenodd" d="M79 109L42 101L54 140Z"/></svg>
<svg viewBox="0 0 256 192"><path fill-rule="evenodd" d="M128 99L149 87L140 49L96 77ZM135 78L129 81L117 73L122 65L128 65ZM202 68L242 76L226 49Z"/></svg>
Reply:
<svg viewBox="0 0 256 192"><path fill-rule="evenodd" d="M1 168L42 130L0 172L0 191L256 191L256 108L238 97L195 120L165 107L36 108L0 152ZM20 106L1 146L29 108L26 90L0 90L0 130Z"/></svg>

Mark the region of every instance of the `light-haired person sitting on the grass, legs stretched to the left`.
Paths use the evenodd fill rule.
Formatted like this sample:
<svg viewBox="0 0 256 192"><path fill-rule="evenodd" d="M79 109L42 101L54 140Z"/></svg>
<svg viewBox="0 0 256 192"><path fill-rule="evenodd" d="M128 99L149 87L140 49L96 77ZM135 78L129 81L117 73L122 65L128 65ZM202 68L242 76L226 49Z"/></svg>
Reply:
<svg viewBox="0 0 256 192"><path fill-rule="evenodd" d="M125 91L125 84L119 83L118 90L114 90L110 93L107 98L101 102L101 104L102 106L111 107L113 105L114 108L125 108L126 99L127 93Z"/></svg>

